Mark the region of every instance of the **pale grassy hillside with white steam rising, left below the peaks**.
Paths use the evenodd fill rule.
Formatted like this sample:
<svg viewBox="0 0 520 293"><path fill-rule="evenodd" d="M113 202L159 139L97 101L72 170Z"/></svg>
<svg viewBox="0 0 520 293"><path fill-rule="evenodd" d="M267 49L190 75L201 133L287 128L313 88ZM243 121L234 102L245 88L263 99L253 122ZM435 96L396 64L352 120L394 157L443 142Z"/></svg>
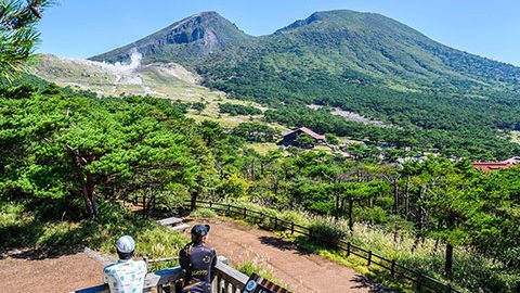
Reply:
<svg viewBox="0 0 520 293"><path fill-rule="evenodd" d="M133 63L109 64L88 60L62 59L42 55L35 74L60 86L92 90L101 95L120 94L154 95L167 98L176 103L202 103L204 106L187 106L188 116L196 120L220 122L233 127L243 122L261 120L262 115L235 115L221 113L219 104L248 105L265 111L255 102L230 99L224 92L210 90L198 85L200 77L176 63L141 65L139 55ZM272 126L286 130L277 124Z"/></svg>

